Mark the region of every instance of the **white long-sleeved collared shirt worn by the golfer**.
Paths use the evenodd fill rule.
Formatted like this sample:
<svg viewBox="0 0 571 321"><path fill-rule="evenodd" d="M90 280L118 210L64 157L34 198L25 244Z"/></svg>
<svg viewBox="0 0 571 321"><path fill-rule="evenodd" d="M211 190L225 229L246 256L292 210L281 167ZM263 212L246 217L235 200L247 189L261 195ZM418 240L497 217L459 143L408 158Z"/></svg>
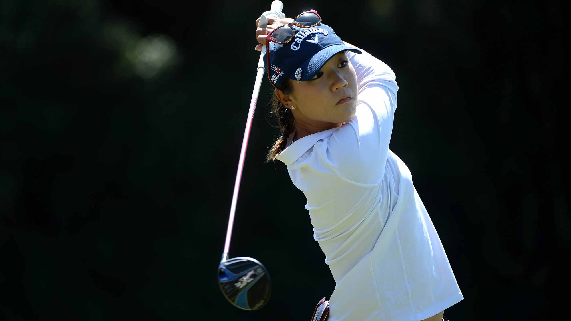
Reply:
<svg viewBox="0 0 571 321"><path fill-rule="evenodd" d="M355 117L293 143L290 135L277 159L307 198L336 282L329 321L422 320L463 296L411 172L388 149L395 73L360 50L348 54L359 83Z"/></svg>

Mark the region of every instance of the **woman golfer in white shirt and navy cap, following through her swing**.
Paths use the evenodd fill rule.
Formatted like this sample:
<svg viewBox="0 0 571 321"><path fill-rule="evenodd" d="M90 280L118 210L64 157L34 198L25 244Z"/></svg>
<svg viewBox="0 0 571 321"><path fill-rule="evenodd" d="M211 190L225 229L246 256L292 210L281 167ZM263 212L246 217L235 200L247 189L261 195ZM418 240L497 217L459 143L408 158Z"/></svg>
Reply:
<svg viewBox="0 0 571 321"><path fill-rule="evenodd" d="M328 320L443 319L463 296L411 172L388 149L395 73L315 10L270 17L256 39L256 50L269 42L263 58L283 133L267 160L286 164L307 198L336 282Z"/></svg>

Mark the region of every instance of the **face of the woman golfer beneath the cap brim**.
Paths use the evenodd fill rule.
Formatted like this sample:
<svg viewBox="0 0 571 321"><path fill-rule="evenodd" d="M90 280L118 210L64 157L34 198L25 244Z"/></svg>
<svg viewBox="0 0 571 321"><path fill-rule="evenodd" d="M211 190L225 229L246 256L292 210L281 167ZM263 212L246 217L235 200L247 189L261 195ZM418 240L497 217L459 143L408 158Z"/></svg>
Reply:
<svg viewBox="0 0 571 321"><path fill-rule="evenodd" d="M323 126L323 123L347 122L355 115L357 75L345 51L331 57L313 79L292 83L297 121ZM352 99L337 104L344 95Z"/></svg>

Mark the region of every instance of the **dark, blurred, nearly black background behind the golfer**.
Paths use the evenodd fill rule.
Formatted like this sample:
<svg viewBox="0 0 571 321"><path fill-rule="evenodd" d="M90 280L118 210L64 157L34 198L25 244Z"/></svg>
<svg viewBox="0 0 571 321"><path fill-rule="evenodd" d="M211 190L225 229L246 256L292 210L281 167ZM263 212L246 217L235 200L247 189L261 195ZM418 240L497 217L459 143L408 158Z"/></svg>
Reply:
<svg viewBox="0 0 571 321"><path fill-rule="evenodd" d="M2 0L0 319L307 320L331 296L303 193L264 163L266 79L230 255L260 260L272 297L243 311L216 283L270 3ZM283 11L309 9L397 75L390 148L464 295L445 315L547 319L571 238L560 2Z"/></svg>

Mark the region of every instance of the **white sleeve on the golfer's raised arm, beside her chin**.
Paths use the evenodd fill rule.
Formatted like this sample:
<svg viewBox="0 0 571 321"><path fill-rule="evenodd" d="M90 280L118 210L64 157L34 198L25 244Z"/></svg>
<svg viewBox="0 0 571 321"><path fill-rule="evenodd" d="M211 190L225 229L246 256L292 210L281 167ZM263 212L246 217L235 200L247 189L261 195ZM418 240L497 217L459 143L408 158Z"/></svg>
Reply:
<svg viewBox="0 0 571 321"><path fill-rule="evenodd" d="M341 178L369 185L383 179L399 87L395 73L384 62L360 50L362 54L347 54L357 74L355 117L323 142L327 148L322 149L322 157Z"/></svg>

